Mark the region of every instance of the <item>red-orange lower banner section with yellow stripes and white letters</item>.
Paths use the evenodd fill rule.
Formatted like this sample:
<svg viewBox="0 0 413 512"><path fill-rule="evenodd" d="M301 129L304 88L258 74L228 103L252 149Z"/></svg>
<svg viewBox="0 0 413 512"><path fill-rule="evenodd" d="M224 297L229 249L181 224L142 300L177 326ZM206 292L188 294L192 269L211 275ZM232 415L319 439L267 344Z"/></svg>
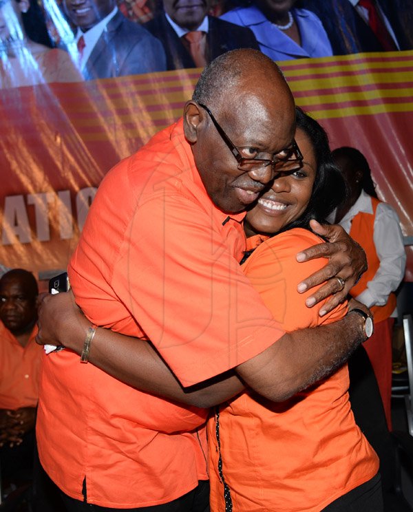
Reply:
<svg viewBox="0 0 413 512"><path fill-rule="evenodd" d="M282 62L332 147L368 158L379 196L413 236L413 52ZM65 268L105 173L176 120L200 70L0 91L0 262ZM102 226L103 230L105 226ZM413 250L406 279L413 280Z"/></svg>

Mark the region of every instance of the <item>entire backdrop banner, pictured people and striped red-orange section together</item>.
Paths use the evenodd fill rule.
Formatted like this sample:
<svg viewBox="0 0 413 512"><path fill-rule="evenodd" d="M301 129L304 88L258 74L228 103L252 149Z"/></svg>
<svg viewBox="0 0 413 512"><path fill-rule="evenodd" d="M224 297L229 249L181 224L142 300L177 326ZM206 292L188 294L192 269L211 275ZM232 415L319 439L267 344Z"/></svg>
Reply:
<svg viewBox="0 0 413 512"><path fill-rule="evenodd" d="M333 148L371 158L413 280L412 27L413 0L0 0L0 263L65 270L109 169L245 48L279 64Z"/></svg>

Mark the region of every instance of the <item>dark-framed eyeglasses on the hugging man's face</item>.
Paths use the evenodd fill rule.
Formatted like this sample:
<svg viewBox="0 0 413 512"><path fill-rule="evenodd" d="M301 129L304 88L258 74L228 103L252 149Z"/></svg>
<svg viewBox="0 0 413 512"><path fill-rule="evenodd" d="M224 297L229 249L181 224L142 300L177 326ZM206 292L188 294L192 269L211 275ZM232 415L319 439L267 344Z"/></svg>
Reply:
<svg viewBox="0 0 413 512"><path fill-rule="evenodd" d="M293 171L294 169L299 169L301 167L304 157L299 150L299 147L297 146L297 142L295 142L294 139L288 148L282 149L282 151L276 153L272 160L264 160L262 158L246 158L242 156L242 149L237 149L237 147L233 145L229 136L226 135L224 130L220 127L218 121L214 118L211 110L209 110L209 108L205 105L202 105L202 103L198 103L198 105L207 111L207 114L211 118L213 125L218 131L218 134L220 134L222 140L224 140L231 153L233 153L233 156L235 156L235 159L238 162L238 169L240 169L240 171L249 172L253 171L253 169L262 169L264 167L268 167L268 165L271 165L274 171L282 173Z"/></svg>

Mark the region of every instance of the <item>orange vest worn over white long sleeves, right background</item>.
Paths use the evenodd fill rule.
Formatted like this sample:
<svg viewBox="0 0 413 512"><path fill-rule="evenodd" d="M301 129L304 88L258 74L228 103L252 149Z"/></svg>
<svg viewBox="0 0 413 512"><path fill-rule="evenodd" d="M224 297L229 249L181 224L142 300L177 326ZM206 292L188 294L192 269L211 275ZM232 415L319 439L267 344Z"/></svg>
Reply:
<svg viewBox="0 0 413 512"><path fill-rule="evenodd" d="M368 281L371 281L379 270L380 260L377 256L376 247L374 246L373 233L374 233L374 219L376 218L377 206L380 201L376 198L371 198L373 213L359 212L354 216L351 228L350 237L354 238L366 252L368 269L361 276L360 281L352 287L351 295L357 297L361 292L366 290ZM396 308L396 295L390 293L387 303L384 306L372 306L370 310L374 316L374 322L381 322L388 317Z"/></svg>

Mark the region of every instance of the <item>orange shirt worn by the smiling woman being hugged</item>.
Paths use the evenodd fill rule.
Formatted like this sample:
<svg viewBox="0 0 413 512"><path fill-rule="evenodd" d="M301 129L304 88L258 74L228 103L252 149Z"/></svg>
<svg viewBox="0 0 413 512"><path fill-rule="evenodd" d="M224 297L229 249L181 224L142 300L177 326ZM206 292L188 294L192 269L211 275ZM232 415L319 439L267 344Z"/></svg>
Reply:
<svg viewBox="0 0 413 512"><path fill-rule="evenodd" d="M253 247L260 237L248 242ZM304 303L310 292L297 292L299 281L324 262L297 263L295 255L317 243L319 238L304 229L286 231L263 242L244 264L246 276L287 331L330 323L346 313L342 305L320 318L320 306ZM284 403L245 392L220 407L222 471L234 511L319 512L377 473L377 456L354 423L348 385L345 365ZM211 511L221 512L215 418L208 434Z"/></svg>

